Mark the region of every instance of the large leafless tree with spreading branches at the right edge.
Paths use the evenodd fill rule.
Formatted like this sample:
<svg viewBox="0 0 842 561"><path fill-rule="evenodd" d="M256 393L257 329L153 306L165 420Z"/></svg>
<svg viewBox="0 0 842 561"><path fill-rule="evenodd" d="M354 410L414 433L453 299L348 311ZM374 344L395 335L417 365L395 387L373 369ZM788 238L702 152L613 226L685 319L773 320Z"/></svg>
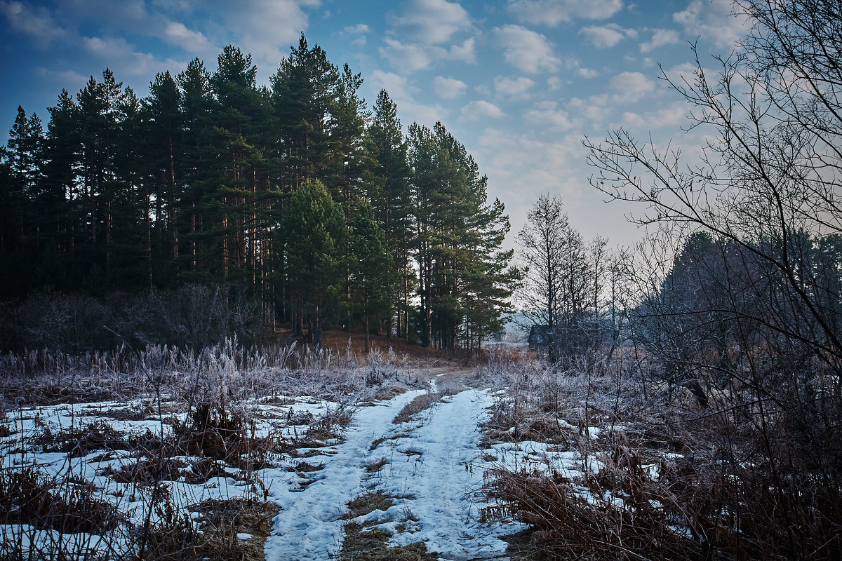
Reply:
<svg viewBox="0 0 842 561"><path fill-rule="evenodd" d="M645 205L643 223L706 236L682 250L685 261L646 293L653 305L637 311L650 320L649 356L661 353L654 368L692 368L717 395L703 419L720 420L706 438L727 458L722 485L740 482L719 499L741 512L733 548L836 558L842 3L735 6L754 26L737 52L715 58L716 75L695 48L692 76L663 75L691 107L689 128L711 139L700 161L685 165L679 151L626 130L584 145L595 188Z"/></svg>

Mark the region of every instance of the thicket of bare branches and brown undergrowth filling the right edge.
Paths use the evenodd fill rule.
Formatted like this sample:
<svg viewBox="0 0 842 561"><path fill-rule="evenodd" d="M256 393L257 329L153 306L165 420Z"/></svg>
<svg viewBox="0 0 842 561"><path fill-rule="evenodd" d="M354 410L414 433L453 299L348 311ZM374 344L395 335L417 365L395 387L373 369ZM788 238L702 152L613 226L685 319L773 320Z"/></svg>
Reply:
<svg viewBox="0 0 842 561"><path fill-rule="evenodd" d="M551 557L842 555L842 3L736 7L754 21L741 48L670 82L711 139L701 161L626 130L585 141L594 187L658 232L626 262L624 344L594 347L624 361L605 370L624 428L587 442L605 469L578 491L552 470L491 485Z"/></svg>

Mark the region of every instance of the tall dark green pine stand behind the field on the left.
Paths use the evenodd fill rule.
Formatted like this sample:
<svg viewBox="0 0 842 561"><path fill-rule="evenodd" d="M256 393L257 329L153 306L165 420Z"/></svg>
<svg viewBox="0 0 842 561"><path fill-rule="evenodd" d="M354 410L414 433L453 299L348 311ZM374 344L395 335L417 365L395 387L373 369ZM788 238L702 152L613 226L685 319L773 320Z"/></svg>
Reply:
<svg viewBox="0 0 842 561"><path fill-rule="evenodd" d="M227 46L138 98L106 70L44 130L19 108L0 168L0 286L104 297L224 287L266 325L479 347L517 271L504 206L442 124L405 138L381 91L305 37L258 87ZM232 294L233 294L232 293Z"/></svg>

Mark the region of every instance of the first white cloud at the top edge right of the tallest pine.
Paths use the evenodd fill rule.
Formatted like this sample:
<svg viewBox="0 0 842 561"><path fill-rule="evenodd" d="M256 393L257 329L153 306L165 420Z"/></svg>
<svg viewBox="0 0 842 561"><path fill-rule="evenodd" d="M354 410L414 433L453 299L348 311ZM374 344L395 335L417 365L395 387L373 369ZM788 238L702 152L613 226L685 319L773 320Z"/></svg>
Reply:
<svg viewBox="0 0 842 561"><path fill-rule="evenodd" d="M408 0L392 23L412 39L429 45L447 43L457 32L471 29L465 8L446 0Z"/></svg>

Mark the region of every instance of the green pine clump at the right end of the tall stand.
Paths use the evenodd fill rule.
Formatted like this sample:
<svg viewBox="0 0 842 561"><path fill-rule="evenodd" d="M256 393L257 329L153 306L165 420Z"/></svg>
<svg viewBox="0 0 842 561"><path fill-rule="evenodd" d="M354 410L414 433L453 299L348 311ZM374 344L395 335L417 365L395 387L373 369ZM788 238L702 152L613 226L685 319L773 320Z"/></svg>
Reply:
<svg viewBox="0 0 842 561"><path fill-rule="evenodd" d="M511 252L500 251L509 220L498 201L487 205L486 177L444 125L413 124L409 133L421 342L452 350L461 338L478 348L502 326L518 276Z"/></svg>

